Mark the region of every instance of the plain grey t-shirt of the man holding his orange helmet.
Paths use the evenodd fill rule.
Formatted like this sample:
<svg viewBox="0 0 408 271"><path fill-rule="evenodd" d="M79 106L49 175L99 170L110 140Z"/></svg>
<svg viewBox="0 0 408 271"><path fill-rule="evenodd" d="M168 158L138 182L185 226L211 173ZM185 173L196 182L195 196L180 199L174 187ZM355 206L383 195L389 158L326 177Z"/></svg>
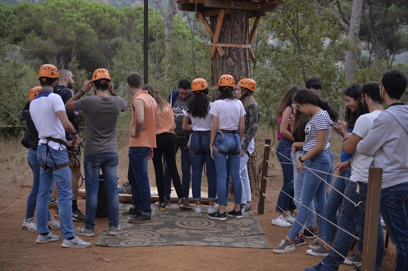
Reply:
<svg viewBox="0 0 408 271"><path fill-rule="evenodd" d="M126 102L121 97L93 95L74 101L73 106L85 113L84 155L116 153L116 123Z"/></svg>

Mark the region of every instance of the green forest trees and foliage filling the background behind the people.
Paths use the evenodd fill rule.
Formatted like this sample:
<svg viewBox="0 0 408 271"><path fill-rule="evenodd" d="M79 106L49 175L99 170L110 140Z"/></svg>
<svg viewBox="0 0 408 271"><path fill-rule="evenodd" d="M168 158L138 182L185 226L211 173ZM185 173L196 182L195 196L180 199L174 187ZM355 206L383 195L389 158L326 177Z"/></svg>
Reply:
<svg viewBox="0 0 408 271"><path fill-rule="evenodd" d="M355 32L350 18L358 1L286 0L281 13L262 18L250 65L265 99L256 97L264 124L276 125L274 111L285 91L304 86L310 76L322 80L322 96L342 112L342 94L351 83L378 81L389 68L408 74L406 0L365 0ZM212 82L210 37L194 12L178 11L175 0L148 2L148 83L167 98L182 78ZM116 92L130 101L126 75L143 75L143 1L1 1L2 137L25 130L21 109L45 63L71 70L75 92L95 69L107 68ZM403 101L408 102L408 93ZM118 128L129 126L130 114L121 114Z"/></svg>

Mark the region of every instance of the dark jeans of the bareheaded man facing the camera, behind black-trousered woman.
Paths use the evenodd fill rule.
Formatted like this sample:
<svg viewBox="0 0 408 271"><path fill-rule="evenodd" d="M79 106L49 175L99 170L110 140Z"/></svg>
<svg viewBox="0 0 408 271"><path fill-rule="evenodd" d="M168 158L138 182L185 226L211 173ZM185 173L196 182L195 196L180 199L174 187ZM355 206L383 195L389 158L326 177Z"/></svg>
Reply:
<svg viewBox="0 0 408 271"><path fill-rule="evenodd" d="M190 181L191 181L191 164L189 151L187 149L187 143L189 138L187 137L184 140L175 141L175 151L180 148L182 154L182 188L183 188L183 198L188 199L190 193ZM164 197L170 199L171 193L171 175L167 167L167 162L163 163L163 174L164 174Z"/></svg>

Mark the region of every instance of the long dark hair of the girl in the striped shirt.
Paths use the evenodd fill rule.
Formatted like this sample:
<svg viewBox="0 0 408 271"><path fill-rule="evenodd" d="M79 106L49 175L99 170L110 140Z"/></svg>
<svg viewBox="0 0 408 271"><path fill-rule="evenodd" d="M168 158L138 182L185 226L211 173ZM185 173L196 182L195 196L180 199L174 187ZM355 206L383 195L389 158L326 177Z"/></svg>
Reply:
<svg viewBox="0 0 408 271"><path fill-rule="evenodd" d="M337 110L331 106L326 99L320 97L320 94L313 89L300 89L293 100L299 104L310 103L319 106L321 109L327 111L333 121L339 119L339 113L337 113Z"/></svg>

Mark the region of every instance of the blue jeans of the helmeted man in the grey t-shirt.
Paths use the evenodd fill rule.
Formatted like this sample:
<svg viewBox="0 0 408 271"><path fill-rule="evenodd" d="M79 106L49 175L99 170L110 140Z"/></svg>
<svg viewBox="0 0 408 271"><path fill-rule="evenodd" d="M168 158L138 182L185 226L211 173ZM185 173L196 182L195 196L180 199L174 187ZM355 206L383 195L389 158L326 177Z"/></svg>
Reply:
<svg viewBox="0 0 408 271"><path fill-rule="evenodd" d="M117 153L96 153L84 156L86 185L85 228L95 228L96 209L98 207L99 172L102 170L106 194L108 196L109 227L119 225L119 195L116 168Z"/></svg>

